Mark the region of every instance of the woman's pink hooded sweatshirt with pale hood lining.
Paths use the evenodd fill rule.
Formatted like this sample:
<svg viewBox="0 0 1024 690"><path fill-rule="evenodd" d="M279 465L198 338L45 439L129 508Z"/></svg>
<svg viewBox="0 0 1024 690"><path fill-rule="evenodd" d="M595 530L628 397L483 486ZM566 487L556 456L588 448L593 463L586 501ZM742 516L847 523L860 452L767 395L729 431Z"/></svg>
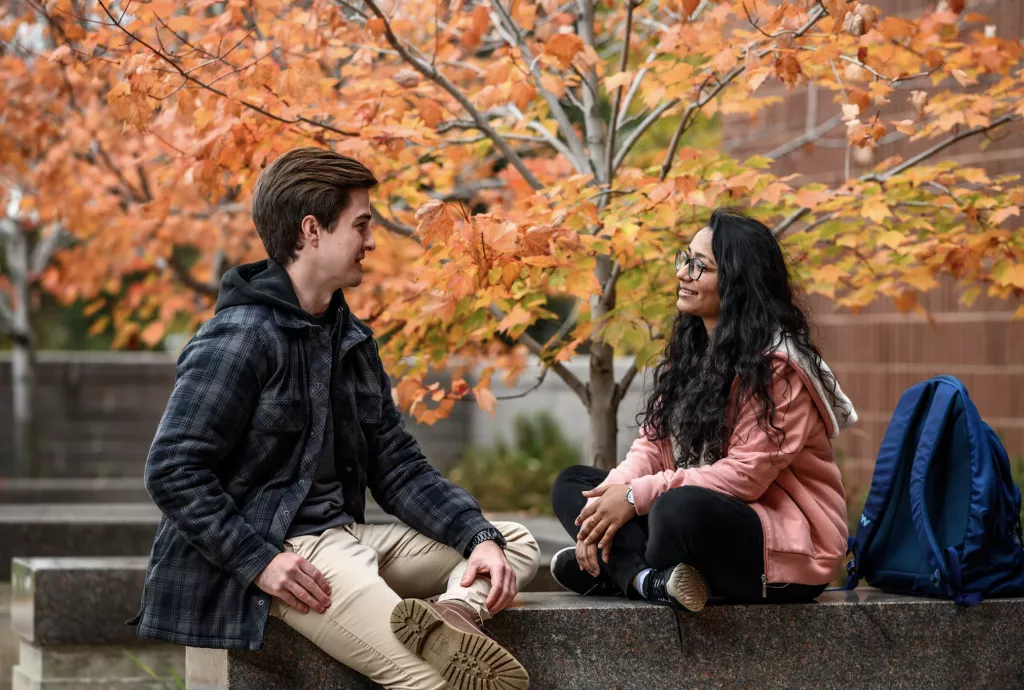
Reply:
<svg viewBox="0 0 1024 690"><path fill-rule="evenodd" d="M827 390L788 342L772 356L775 425L785 431L781 451L758 427L756 407L748 402L717 462L676 469L671 440L641 434L601 485L632 484L639 515L678 486L739 499L764 528L762 581L824 585L846 554L848 535L846 495L829 439L855 424L857 414L839 384L835 392ZM824 362L822 368L827 371Z"/></svg>

